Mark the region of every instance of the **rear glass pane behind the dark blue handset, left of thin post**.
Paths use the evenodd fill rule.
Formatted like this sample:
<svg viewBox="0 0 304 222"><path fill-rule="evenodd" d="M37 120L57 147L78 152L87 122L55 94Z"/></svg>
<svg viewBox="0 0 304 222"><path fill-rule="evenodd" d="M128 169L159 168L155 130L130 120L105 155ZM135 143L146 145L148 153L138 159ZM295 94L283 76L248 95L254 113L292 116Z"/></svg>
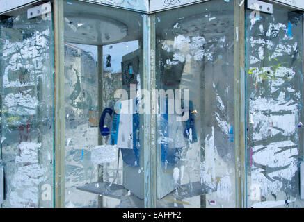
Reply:
<svg viewBox="0 0 304 222"><path fill-rule="evenodd" d="M97 46L65 43L65 206L94 207L96 195L75 191L76 183L97 181L88 148L98 145ZM78 132L76 132L78 131ZM87 137L84 137L87 135ZM76 192L77 195L73 195Z"/></svg>

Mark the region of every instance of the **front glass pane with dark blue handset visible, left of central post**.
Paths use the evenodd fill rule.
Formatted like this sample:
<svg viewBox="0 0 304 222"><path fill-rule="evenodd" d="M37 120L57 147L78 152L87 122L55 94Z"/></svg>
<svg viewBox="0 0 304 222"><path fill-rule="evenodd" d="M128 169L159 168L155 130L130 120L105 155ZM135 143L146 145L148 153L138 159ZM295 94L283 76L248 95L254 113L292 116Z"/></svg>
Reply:
<svg viewBox="0 0 304 222"><path fill-rule="evenodd" d="M124 112L141 89L143 17L64 6L65 207L143 207L141 118Z"/></svg>

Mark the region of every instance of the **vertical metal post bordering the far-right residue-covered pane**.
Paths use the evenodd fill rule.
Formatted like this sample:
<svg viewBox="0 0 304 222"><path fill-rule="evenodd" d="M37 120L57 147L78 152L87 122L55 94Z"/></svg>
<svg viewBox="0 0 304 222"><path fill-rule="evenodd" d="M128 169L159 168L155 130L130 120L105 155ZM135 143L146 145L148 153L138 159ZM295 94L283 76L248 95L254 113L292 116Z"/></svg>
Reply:
<svg viewBox="0 0 304 222"><path fill-rule="evenodd" d="M234 1L234 125L236 207L246 206L245 4ZM241 118L240 118L241 117Z"/></svg>

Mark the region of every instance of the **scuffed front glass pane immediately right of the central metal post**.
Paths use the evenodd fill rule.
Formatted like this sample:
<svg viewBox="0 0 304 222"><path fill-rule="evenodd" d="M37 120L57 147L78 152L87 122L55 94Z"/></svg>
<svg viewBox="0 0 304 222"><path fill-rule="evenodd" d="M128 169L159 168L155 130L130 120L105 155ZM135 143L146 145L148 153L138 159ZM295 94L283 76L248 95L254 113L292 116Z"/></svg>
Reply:
<svg viewBox="0 0 304 222"><path fill-rule="evenodd" d="M160 12L156 29L157 206L235 207L234 2Z"/></svg>

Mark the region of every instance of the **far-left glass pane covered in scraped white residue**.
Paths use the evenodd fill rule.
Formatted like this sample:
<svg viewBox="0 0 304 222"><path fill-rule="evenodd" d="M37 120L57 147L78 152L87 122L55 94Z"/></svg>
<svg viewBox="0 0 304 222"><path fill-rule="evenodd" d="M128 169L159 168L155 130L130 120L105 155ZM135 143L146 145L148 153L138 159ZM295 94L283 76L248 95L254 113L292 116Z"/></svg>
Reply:
<svg viewBox="0 0 304 222"><path fill-rule="evenodd" d="M53 207L54 40L51 14L0 22L3 207Z"/></svg>

